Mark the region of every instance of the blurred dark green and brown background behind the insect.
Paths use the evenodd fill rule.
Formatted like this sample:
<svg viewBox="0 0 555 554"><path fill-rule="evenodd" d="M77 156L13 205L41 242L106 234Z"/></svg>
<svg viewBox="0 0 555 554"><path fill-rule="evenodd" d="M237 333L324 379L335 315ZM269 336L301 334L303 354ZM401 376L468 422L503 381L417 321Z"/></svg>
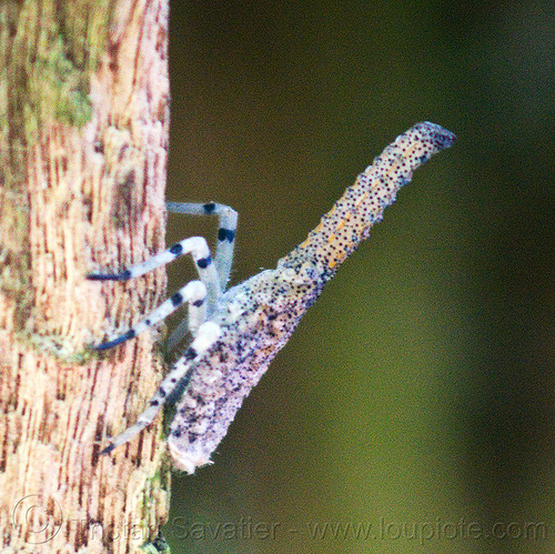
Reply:
<svg viewBox="0 0 555 554"><path fill-rule="evenodd" d="M174 0L170 50L168 198L239 211L231 284L415 122L458 135L174 475L172 552L553 554L553 2Z"/></svg>

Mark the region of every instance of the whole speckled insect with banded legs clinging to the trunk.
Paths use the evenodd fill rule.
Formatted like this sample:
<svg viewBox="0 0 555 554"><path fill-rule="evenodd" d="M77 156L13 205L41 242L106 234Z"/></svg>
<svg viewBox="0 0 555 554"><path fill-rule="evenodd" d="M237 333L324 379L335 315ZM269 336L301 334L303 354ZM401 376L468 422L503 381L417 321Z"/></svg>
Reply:
<svg viewBox="0 0 555 554"><path fill-rule="evenodd" d="M220 216L218 250L210 255L206 241L194 236L121 273L91 273L92 280L125 281L191 254L199 280L188 283L147 319L113 341L95 346L111 349L134 338L188 304L185 325L170 338L174 345L189 331L193 338L173 364L137 423L112 439L103 453L127 443L149 425L168 397L180 387L182 397L170 425L168 445L176 467L193 473L210 463L244 397L259 382L275 354L284 346L323 286L384 209L406 184L413 171L433 154L451 147L455 135L435 123L412 127L390 144L359 175L307 239L278 262L274 270L258 273L225 291L238 214L222 204L176 204L173 212Z"/></svg>

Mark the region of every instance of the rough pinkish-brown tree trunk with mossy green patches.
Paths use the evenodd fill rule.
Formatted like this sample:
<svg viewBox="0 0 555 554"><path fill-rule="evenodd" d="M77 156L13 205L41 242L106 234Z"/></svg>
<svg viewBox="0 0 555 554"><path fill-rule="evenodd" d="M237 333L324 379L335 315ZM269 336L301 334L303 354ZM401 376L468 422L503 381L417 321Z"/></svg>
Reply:
<svg viewBox="0 0 555 554"><path fill-rule="evenodd" d="M160 301L168 0L0 3L1 551L137 552L168 511L160 423L99 457L161 377L149 336L84 345ZM162 464L163 466L164 464Z"/></svg>

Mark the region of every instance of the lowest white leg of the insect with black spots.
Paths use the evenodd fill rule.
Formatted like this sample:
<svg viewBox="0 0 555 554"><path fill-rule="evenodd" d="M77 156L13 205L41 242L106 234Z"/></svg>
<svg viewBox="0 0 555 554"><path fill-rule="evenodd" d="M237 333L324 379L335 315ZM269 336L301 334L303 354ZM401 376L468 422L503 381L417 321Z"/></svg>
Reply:
<svg viewBox="0 0 555 554"><path fill-rule="evenodd" d="M206 321L198 331L196 338L191 343L183 356L173 365L168 376L160 384L157 393L150 401L149 407L138 417L137 423L128 427L121 435L113 439L101 454L109 454L117 446L129 442L133 436L150 425L163 406L168 396L179 386L186 386L191 379L192 364L201 357L221 336L218 323Z"/></svg>

